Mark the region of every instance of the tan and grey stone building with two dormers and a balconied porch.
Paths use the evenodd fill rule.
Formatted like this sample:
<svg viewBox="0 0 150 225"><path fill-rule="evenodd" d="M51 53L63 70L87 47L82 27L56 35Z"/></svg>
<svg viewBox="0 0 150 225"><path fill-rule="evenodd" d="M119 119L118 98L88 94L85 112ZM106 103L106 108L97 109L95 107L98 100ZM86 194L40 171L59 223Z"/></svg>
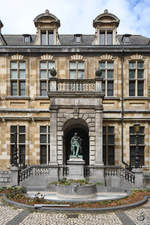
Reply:
<svg viewBox="0 0 150 225"><path fill-rule="evenodd" d="M16 148L20 165L66 165L74 132L86 165L134 166L138 145L149 168L150 39L117 34L108 10L92 35L59 34L48 10L34 24L35 35L4 35L0 22L0 170Z"/></svg>

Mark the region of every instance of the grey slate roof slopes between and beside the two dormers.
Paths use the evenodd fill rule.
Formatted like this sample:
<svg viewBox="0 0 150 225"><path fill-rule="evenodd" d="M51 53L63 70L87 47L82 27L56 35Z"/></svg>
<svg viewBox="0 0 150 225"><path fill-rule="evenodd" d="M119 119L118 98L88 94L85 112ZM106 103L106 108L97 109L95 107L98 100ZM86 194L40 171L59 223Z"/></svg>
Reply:
<svg viewBox="0 0 150 225"><path fill-rule="evenodd" d="M123 38L126 35L118 35L119 45L149 45L150 38L141 35L127 35L128 38ZM31 42L24 43L24 35L3 35L4 40L8 46L24 46L34 45L36 35L31 35ZM77 46L90 46L94 41L95 35L82 35L81 42L78 43L75 40L74 34L59 35L61 45L77 45Z"/></svg>

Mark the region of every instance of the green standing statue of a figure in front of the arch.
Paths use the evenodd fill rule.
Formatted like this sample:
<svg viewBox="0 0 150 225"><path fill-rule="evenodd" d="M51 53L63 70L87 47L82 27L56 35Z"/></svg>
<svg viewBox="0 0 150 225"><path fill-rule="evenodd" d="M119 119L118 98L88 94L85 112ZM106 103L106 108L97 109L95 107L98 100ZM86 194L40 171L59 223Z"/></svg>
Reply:
<svg viewBox="0 0 150 225"><path fill-rule="evenodd" d="M71 138L71 153L73 156L79 157L79 151L81 150L82 139L78 136L77 132Z"/></svg>

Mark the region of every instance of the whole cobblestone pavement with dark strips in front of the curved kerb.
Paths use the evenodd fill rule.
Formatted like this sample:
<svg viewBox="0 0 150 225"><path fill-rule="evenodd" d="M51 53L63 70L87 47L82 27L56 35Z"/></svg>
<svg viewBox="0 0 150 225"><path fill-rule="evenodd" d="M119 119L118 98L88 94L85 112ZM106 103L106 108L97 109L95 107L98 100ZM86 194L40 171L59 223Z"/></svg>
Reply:
<svg viewBox="0 0 150 225"><path fill-rule="evenodd" d="M150 225L150 201L130 210L107 213L39 212L0 201L0 225Z"/></svg>

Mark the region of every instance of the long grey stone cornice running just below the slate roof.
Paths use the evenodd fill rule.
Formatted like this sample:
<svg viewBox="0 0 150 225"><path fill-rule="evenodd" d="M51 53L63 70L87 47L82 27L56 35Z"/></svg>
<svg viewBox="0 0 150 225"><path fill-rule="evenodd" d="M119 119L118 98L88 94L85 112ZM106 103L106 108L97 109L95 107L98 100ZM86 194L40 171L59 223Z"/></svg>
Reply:
<svg viewBox="0 0 150 225"><path fill-rule="evenodd" d="M150 53L150 46L139 45L139 46L100 46L100 45L90 45L90 46L64 46L64 45L54 45L48 48L47 46L32 45L32 46L0 46L0 54L2 53L12 53L14 55L27 54L53 54L53 53L63 53L63 54L81 54L81 53L101 53L101 54L136 54L140 53Z"/></svg>

